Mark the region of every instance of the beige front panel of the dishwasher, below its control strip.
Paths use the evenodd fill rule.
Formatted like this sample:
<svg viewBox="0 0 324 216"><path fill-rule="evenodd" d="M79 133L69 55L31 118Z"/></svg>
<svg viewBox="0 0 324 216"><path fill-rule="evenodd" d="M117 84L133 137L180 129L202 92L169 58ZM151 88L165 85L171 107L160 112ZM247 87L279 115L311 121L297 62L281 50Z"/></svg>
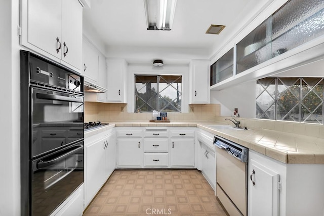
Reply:
<svg viewBox="0 0 324 216"><path fill-rule="evenodd" d="M216 173L217 185L239 209L238 214L247 215L247 163L237 160L223 149L216 148ZM221 196L217 197L221 200ZM228 209L227 211L230 212Z"/></svg>

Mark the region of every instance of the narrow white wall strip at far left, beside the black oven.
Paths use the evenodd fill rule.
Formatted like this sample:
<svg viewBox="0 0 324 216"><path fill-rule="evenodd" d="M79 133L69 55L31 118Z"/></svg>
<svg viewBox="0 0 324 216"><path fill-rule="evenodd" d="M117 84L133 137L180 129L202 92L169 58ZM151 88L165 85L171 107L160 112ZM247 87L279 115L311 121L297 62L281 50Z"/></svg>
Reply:
<svg viewBox="0 0 324 216"><path fill-rule="evenodd" d="M0 7L3 80L0 93L0 215L20 215L19 2L2 1Z"/></svg>

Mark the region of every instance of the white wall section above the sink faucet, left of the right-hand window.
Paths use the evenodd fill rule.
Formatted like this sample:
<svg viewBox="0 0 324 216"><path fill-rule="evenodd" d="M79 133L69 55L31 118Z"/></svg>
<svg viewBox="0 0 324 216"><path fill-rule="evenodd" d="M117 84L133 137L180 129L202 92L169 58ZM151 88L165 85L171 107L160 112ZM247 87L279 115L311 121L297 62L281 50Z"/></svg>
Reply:
<svg viewBox="0 0 324 216"><path fill-rule="evenodd" d="M231 116L234 108L238 108L240 117L255 118L256 81L211 91L211 103L221 104L221 116Z"/></svg>

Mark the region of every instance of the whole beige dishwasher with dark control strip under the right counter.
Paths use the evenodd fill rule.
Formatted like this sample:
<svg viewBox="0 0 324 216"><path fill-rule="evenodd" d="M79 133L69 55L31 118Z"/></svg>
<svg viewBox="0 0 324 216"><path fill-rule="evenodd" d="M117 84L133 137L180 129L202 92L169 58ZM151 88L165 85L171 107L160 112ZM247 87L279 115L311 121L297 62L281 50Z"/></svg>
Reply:
<svg viewBox="0 0 324 216"><path fill-rule="evenodd" d="M216 196L229 215L248 215L249 149L220 136L216 145Z"/></svg>

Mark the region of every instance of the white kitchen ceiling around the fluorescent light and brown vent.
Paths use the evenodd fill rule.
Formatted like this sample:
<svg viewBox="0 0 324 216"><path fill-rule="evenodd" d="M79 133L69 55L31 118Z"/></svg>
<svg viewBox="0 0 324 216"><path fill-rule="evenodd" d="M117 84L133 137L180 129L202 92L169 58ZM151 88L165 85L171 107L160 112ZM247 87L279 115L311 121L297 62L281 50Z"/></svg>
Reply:
<svg viewBox="0 0 324 216"><path fill-rule="evenodd" d="M210 59L269 0L177 0L171 31L147 30L143 0L92 0L84 9L84 29L105 46L106 57L130 63L162 59L186 63ZM226 25L206 34L211 24Z"/></svg>

